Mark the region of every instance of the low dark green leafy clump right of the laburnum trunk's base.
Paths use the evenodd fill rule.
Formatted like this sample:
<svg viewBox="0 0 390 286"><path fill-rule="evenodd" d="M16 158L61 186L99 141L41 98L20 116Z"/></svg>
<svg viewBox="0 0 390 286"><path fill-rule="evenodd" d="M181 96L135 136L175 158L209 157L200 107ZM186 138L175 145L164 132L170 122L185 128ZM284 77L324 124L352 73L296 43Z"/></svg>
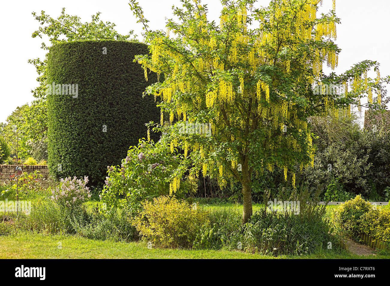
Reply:
<svg viewBox="0 0 390 286"><path fill-rule="evenodd" d="M244 241L246 250L273 255L303 255L327 249L337 240L333 238L321 207L298 215L292 212L256 212L246 226ZM330 243L329 243L330 242Z"/></svg>

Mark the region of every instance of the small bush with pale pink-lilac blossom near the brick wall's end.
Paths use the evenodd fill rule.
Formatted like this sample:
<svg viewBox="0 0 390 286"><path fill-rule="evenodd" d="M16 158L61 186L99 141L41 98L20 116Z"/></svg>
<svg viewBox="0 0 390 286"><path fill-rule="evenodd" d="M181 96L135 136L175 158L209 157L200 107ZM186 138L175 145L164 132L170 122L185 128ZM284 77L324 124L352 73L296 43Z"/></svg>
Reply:
<svg viewBox="0 0 390 286"><path fill-rule="evenodd" d="M60 184L51 191L51 200L71 210L80 207L91 197L87 183L88 177L83 180L77 177L61 179Z"/></svg>

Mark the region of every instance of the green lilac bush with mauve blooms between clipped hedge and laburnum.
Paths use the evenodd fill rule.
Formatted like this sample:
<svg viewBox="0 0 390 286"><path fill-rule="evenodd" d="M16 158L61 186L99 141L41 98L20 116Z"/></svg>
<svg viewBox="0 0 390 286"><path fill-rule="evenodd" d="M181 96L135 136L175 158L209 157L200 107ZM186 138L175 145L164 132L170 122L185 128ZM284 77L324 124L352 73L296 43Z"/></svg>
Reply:
<svg viewBox="0 0 390 286"><path fill-rule="evenodd" d="M183 172L181 157L171 154L163 140L154 143L140 139L138 146L129 149L121 166L107 166L108 177L100 198L108 212L116 212L119 207L135 214L144 200L169 194L183 197L188 186L177 175Z"/></svg>

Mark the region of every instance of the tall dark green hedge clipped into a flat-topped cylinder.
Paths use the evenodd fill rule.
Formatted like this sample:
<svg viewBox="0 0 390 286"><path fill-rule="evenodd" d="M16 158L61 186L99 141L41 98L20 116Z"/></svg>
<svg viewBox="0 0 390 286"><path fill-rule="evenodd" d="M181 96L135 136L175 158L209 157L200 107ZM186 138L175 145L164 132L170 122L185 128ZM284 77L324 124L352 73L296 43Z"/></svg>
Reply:
<svg viewBox="0 0 390 286"><path fill-rule="evenodd" d="M145 81L141 65L133 62L135 55L147 53L145 44L115 40L50 48L48 166L53 177L87 175L92 185L102 184L107 166L120 164L129 146L147 137L145 123L160 121L154 97L142 97L157 75L148 73ZM65 84L74 84L73 90Z"/></svg>

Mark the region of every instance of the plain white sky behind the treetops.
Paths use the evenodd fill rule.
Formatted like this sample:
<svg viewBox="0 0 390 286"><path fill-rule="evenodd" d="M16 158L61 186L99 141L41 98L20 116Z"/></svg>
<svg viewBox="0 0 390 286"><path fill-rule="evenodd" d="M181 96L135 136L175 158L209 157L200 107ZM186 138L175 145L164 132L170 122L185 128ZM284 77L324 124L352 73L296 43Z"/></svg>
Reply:
<svg viewBox="0 0 390 286"><path fill-rule="evenodd" d="M138 0L152 29L165 29L165 17L173 18L172 5L180 5L179 0ZM209 7L209 19L219 22L221 9L219 0L204 0ZM321 11L329 11L332 0L323 0ZM268 0L259 0L259 5L267 6ZM117 31L127 34L129 30L141 34L141 26L136 23L133 12L129 9L128 0L21 0L3 2L0 11L3 32L1 35L1 94L0 122L18 106L34 100L31 89L38 83L35 67L27 60L44 59L45 51L41 49L40 38L31 34L39 27L32 12L40 14L45 11L57 18L61 8L67 14L81 17L82 22L90 21L91 15L101 12L100 19L117 25ZM389 0L336 0L336 12L341 18L337 26L336 43L342 49L339 55L339 67L335 70L342 73L354 63L362 60L376 60L381 64L381 76L390 74L390 37L385 32L389 26ZM370 76L370 74L369 74ZM374 74L371 74L374 77Z"/></svg>

